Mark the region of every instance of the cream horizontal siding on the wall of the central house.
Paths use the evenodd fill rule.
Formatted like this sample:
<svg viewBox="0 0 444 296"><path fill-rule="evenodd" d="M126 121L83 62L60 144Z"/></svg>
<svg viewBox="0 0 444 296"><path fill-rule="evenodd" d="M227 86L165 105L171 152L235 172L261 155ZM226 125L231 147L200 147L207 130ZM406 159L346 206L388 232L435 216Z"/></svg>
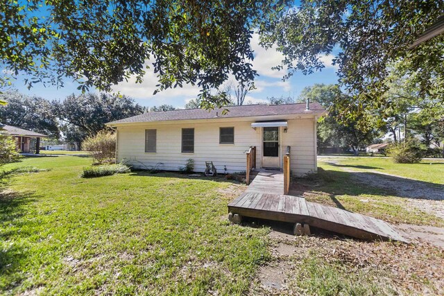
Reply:
<svg viewBox="0 0 444 296"><path fill-rule="evenodd" d="M196 172L205 171L205 161L212 161L217 171L228 173L246 170L246 151L256 146L256 167L262 165L262 129L251 128L254 121L232 121L230 127L236 132L234 144L221 145L220 128L227 127L225 122L171 124L146 123L146 125L119 126L117 160L144 168L155 166L165 171L178 171L185 166L187 159L194 159ZM281 155L291 146L291 170L295 175L316 171L314 119L290 119L287 132L280 128ZM182 153L182 128L194 128L194 154ZM157 134L157 153L144 153L145 130L155 129ZM281 157L282 158L282 157ZM282 159L281 159L282 162Z"/></svg>

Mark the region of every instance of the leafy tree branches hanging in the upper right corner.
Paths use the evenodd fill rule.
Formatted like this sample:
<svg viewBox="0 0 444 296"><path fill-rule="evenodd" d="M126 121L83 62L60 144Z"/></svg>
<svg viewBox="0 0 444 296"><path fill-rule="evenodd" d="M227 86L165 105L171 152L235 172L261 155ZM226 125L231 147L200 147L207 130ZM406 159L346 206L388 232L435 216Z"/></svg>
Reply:
<svg viewBox="0 0 444 296"><path fill-rule="evenodd" d="M386 78L398 62L420 92L444 101L444 35L411 49L441 15L441 0L302 0L263 31L262 44L284 54L278 67L288 76L323 69L323 55L335 54L341 88L353 98L336 101L336 110L358 118L388 105Z"/></svg>

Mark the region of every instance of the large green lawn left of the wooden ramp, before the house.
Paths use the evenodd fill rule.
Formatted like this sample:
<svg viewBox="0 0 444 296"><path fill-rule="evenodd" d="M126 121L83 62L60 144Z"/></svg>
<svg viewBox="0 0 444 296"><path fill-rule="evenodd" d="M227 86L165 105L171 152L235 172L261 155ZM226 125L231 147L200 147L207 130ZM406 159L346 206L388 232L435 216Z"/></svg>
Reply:
<svg viewBox="0 0 444 296"><path fill-rule="evenodd" d="M50 169L1 193L3 293L246 293L268 229L230 225L230 182L130 173L82 179L86 157L27 158ZM215 292L216 293L216 292Z"/></svg>

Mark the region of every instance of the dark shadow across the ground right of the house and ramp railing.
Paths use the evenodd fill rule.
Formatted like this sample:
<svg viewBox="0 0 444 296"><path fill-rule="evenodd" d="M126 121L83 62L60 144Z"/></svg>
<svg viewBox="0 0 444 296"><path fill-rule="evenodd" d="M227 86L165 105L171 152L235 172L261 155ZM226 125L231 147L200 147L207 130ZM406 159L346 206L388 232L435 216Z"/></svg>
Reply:
<svg viewBox="0 0 444 296"><path fill-rule="evenodd" d="M307 191L327 193L338 207L336 195L391 195L400 198L444 200L444 186L431 182L382 175L373 172L330 171L318 168L318 173L293 182L293 192L299 195Z"/></svg>

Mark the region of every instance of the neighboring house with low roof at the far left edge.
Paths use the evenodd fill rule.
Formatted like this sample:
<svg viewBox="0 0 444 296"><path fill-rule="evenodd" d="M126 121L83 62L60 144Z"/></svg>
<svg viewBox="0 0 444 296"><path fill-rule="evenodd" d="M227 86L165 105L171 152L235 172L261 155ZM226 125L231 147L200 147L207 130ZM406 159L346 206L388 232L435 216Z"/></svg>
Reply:
<svg viewBox="0 0 444 296"><path fill-rule="evenodd" d="M0 128L0 134L6 134L15 138L17 143L16 149L20 153L40 153L40 139L48 137L46 134L17 128L12 125L0 124Z"/></svg>

